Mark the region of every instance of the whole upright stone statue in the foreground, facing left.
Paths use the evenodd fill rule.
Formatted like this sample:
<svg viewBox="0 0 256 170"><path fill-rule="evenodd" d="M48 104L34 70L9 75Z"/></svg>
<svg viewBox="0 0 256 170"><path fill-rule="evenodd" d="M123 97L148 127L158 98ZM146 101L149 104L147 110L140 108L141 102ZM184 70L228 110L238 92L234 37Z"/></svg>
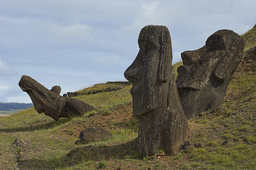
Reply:
<svg viewBox="0 0 256 170"><path fill-rule="evenodd" d="M185 143L188 122L180 104L167 27L148 25L139 34L139 53L125 71L133 83L133 116L139 120L138 151L174 155Z"/></svg>

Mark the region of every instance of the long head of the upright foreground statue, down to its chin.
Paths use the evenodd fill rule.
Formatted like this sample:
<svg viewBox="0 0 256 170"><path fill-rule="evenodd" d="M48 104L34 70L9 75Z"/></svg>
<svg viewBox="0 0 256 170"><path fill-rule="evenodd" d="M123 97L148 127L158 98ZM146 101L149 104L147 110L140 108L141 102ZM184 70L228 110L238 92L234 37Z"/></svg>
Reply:
<svg viewBox="0 0 256 170"><path fill-rule="evenodd" d="M167 100L164 91L168 90L167 82L171 79L172 70L171 37L167 27L144 27L138 44L139 53L125 71L125 78L133 83L130 92L133 96L134 116L163 105L163 100ZM160 53L163 49L166 54Z"/></svg>

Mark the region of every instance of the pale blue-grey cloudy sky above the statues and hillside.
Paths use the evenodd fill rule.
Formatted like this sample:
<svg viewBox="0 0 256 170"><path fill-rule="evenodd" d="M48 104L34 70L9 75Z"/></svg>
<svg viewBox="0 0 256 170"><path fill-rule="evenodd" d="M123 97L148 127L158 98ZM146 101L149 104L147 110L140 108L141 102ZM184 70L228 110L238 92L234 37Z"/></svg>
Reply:
<svg viewBox="0 0 256 170"><path fill-rule="evenodd" d="M28 75L61 95L125 80L145 25L166 25L173 61L218 29L245 33L255 0L0 0L0 102L31 103L18 86Z"/></svg>

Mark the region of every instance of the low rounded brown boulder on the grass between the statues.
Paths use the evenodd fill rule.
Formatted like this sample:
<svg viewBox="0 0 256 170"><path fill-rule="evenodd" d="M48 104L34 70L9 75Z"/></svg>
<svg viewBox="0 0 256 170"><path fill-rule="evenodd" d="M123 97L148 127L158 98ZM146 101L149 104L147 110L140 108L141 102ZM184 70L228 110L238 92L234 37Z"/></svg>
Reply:
<svg viewBox="0 0 256 170"><path fill-rule="evenodd" d="M85 130L81 131L79 135L79 140L76 141L76 144L101 141L102 139L110 137L112 137L112 134L102 127L97 126L86 128Z"/></svg>

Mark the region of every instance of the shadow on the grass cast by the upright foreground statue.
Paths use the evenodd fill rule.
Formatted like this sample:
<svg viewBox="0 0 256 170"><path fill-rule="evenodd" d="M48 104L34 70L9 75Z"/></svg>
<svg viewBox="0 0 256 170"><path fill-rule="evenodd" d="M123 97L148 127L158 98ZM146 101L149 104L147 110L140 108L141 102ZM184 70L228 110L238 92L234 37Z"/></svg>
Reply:
<svg viewBox="0 0 256 170"><path fill-rule="evenodd" d="M121 145L113 146L90 146L80 145L73 148L68 154L64 156L55 156L49 160L25 158L20 162L19 168L24 169L55 169L68 168L79 164L85 165L86 162L101 162L109 160L125 160L138 159L139 154L135 150L135 143L137 138L133 141L122 143ZM86 166L86 165L85 165Z"/></svg>

